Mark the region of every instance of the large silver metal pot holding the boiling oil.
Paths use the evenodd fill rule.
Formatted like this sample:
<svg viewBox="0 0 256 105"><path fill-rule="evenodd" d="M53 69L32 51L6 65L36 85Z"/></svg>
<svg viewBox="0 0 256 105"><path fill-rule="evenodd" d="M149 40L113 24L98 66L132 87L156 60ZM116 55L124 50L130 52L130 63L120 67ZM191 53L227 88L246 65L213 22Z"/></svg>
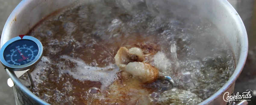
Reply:
<svg viewBox="0 0 256 105"><path fill-rule="evenodd" d="M73 5L83 3L88 0L23 0L13 10L9 16L1 37L1 46L11 38L17 35L27 34L27 32L36 26L42 20L47 19L49 14L55 14L59 11L72 7ZM176 0L184 7L196 7L194 9L181 10L183 16L204 16L210 19L223 32L227 41L230 43L236 58L236 70L228 82L207 100L200 104L226 105L228 102L223 100L225 92L233 93L235 81L242 71L248 52L248 38L245 26L236 12L236 10L226 0ZM170 5L172 7L172 5ZM179 13L178 13L179 14ZM14 94L16 104L48 104L30 92L16 77L15 73L7 70L8 75L14 82ZM230 95L229 94L229 95Z"/></svg>

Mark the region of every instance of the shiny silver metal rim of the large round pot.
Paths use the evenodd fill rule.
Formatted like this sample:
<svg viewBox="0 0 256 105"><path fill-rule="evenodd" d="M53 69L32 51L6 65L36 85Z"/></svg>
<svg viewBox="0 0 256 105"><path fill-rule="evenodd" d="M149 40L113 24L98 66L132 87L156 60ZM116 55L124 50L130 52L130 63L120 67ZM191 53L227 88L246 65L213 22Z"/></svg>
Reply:
<svg viewBox="0 0 256 105"><path fill-rule="evenodd" d="M12 20L15 19L15 15L17 13L19 13L20 11L23 10L23 8L25 8L32 0L22 0L16 7L15 9L11 12L10 16L8 17L3 32L2 32L2 36L1 36L1 42L0 42L0 47L2 47L4 45L4 42L2 41L4 37L6 37L5 35L9 33L9 31L11 31L10 27L11 27L11 22ZM240 30L241 30L241 45L242 48L240 50L240 56L239 56L239 61L237 63L236 69L233 72L232 76L229 78L229 80L213 95L211 95L211 97L207 98L206 100L204 100L203 102L199 103L199 105L201 104L209 104L210 102L214 101L217 97L219 97L220 95L223 94L223 92L227 91L232 85L233 83L236 81L236 79L239 77L240 73L242 72L242 69L245 65L245 61L247 58L247 54L248 54L248 37L247 37L247 33L246 33L246 29L244 26L244 23L242 22L242 19L239 15L237 15L237 11L234 9L234 7L226 0L218 0L218 2L220 3L220 5L224 5L226 10L229 11L229 13L231 13L230 15L233 17L233 19L235 19L237 25L239 26ZM14 74L14 72L11 72L9 70L6 70L8 75L10 76L10 78L12 79L12 81L14 82L14 86L17 86L18 88L21 89L21 91L23 91L29 98L33 99L35 102L37 102L38 104L43 104L43 105L50 105L47 102L43 101L42 99L40 99L39 97L37 97L36 95L34 95L29 89L27 89L21 82L20 80L16 77L16 75Z"/></svg>

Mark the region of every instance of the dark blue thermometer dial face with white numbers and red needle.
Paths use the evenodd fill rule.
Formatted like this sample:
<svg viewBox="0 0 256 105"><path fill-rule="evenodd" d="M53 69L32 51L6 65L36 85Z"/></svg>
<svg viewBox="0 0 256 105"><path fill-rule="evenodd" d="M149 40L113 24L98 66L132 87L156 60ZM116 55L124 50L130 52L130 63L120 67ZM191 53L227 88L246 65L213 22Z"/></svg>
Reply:
<svg viewBox="0 0 256 105"><path fill-rule="evenodd" d="M9 44L4 50L4 59L12 65L28 64L39 53L39 47L34 41L22 39Z"/></svg>

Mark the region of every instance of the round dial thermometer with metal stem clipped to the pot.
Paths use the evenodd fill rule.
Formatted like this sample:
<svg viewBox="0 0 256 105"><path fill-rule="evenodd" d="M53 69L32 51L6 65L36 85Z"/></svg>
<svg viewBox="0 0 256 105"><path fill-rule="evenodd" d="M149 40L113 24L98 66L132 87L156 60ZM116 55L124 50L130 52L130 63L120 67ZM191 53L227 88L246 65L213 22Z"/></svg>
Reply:
<svg viewBox="0 0 256 105"><path fill-rule="evenodd" d="M30 79L31 86L34 87L28 69L35 66L41 60L42 52L43 46L38 39L19 35L2 46L0 49L0 61L5 69L16 72L27 70L26 73Z"/></svg>

